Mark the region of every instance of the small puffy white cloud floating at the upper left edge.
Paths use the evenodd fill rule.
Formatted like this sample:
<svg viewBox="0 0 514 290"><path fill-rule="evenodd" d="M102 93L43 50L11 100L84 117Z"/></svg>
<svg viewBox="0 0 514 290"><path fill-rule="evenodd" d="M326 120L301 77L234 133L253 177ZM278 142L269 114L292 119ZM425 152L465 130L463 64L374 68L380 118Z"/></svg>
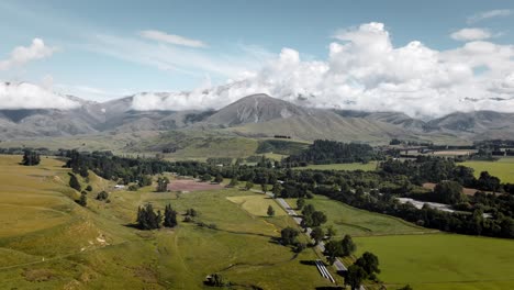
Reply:
<svg viewBox="0 0 514 290"><path fill-rule="evenodd" d="M0 60L0 70L7 70L13 67L51 56L56 51L55 47L48 47L43 40L34 38L31 46L18 46L11 52L9 59Z"/></svg>

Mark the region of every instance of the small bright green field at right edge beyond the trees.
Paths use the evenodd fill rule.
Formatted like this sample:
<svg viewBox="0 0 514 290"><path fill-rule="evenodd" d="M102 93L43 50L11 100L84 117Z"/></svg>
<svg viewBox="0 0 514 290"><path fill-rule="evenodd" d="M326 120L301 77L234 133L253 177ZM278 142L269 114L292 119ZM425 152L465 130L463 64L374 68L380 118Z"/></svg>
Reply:
<svg viewBox="0 0 514 290"><path fill-rule="evenodd" d="M498 161L465 161L461 165L473 168L476 177L482 171L489 171L502 182L514 183L514 157L500 158Z"/></svg>

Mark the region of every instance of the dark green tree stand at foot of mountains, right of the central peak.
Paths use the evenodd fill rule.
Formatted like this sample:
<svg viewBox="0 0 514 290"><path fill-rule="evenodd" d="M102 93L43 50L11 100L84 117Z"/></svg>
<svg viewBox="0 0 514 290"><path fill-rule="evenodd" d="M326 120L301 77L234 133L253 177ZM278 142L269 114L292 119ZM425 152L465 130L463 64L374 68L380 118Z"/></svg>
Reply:
<svg viewBox="0 0 514 290"><path fill-rule="evenodd" d="M283 161L288 167L293 167L308 164L368 163L380 158L381 154L368 144L316 140L306 150L291 155Z"/></svg>

